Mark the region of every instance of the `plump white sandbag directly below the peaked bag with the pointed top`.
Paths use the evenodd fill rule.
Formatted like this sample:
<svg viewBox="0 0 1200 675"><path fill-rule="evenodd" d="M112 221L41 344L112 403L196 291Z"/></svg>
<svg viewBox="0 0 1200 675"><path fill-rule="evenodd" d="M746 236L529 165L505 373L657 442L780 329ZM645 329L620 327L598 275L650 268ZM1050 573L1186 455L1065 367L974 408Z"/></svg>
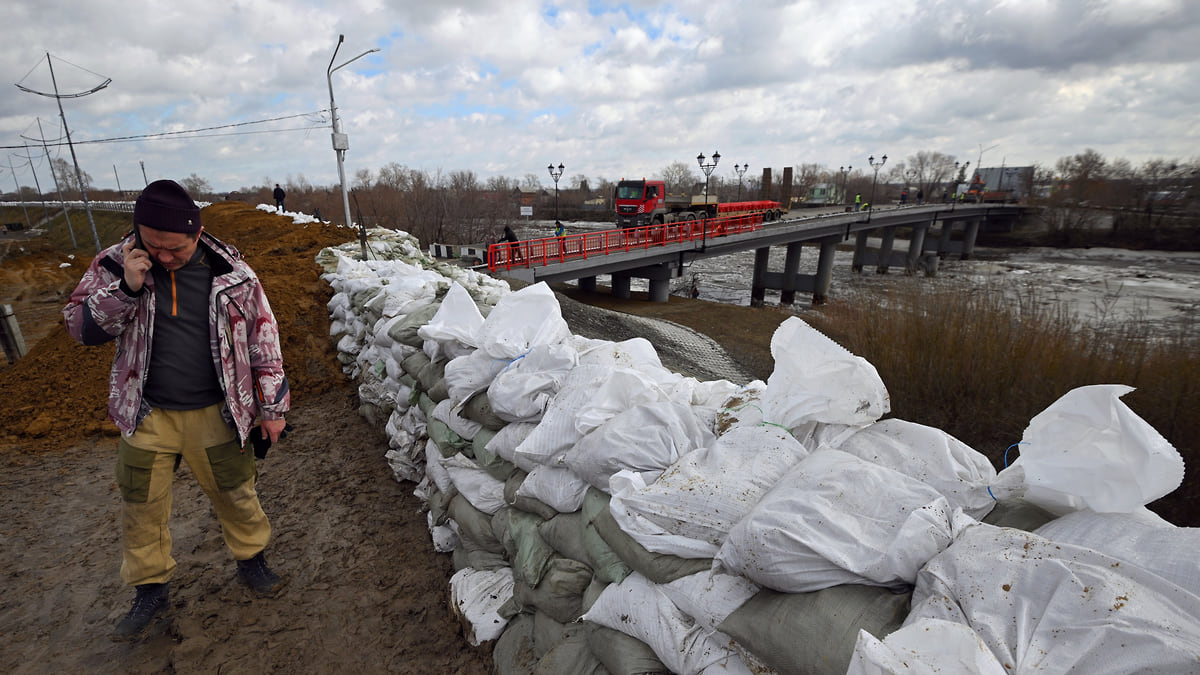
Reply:
<svg viewBox="0 0 1200 675"><path fill-rule="evenodd" d="M504 360L487 388L492 411L508 422L538 422L577 365L578 353L564 342L535 345L514 362Z"/></svg>

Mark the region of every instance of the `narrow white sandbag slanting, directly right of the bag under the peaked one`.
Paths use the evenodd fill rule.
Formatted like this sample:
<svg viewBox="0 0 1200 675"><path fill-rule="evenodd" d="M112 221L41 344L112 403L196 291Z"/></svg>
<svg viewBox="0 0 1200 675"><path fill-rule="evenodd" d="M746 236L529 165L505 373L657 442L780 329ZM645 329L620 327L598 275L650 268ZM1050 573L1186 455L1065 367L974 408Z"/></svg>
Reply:
<svg viewBox="0 0 1200 675"><path fill-rule="evenodd" d="M533 471L535 466L552 460L558 462L563 453L574 448L583 436L575 428L580 410L592 400L596 388L611 376L612 369L605 366L578 365L571 370L558 394L546 406L541 422L517 446L510 461L524 471Z"/></svg>

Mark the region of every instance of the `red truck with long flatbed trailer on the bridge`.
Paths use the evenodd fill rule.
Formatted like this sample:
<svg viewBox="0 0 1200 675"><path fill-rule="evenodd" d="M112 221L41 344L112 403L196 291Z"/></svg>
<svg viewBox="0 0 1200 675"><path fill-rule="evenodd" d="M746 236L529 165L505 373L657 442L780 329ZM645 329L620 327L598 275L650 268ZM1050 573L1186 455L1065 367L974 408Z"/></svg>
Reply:
<svg viewBox="0 0 1200 675"><path fill-rule="evenodd" d="M661 180L622 180L617 184L613 203L617 209L617 227L643 227L746 214L763 214L763 221L779 220L786 213L779 202L727 202L718 203L710 195L708 203L704 196L667 195L666 184Z"/></svg>

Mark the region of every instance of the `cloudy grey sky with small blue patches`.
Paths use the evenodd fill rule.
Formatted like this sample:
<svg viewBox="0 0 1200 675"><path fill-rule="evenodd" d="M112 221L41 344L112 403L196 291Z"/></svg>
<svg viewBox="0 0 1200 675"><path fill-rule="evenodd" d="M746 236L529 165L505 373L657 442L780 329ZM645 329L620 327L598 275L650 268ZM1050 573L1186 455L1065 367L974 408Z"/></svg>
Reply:
<svg viewBox="0 0 1200 675"><path fill-rule="evenodd" d="M61 135L98 187L218 192L395 162L553 186L734 163L890 168L917 151L1054 165L1200 156L1196 0L6 0L0 145ZM47 53L50 54L47 59ZM280 119L269 124L246 124ZM241 126L229 126L241 125ZM212 129L206 136L84 143ZM6 149L0 190L32 185ZM67 149L52 154L70 159ZM34 162L43 190L44 154ZM115 166L115 171L114 171ZM696 172L698 174L698 171Z"/></svg>

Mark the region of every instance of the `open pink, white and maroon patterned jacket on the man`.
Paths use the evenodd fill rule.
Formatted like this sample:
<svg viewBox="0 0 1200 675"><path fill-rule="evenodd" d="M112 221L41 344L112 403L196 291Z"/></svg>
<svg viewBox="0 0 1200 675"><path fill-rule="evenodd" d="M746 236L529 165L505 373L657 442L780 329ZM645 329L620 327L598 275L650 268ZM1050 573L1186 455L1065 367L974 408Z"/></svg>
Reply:
<svg viewBox="0 0 1200 675"><path fill-rule="evenodd" d="M116 357L108 381L108 416L126 436L133 434L150 406L142 398L150 364L154 330L154 277L143 292L128 295L121 285L125 240L102 251L62 309L67 333L83 345L116 340ZM280 419L292 406L283 374L280 329L254 270L241 253L200 234L200 246L212 252L209 303L209 346L224 389L226 422L245 444L254 419Z"/></svg>

